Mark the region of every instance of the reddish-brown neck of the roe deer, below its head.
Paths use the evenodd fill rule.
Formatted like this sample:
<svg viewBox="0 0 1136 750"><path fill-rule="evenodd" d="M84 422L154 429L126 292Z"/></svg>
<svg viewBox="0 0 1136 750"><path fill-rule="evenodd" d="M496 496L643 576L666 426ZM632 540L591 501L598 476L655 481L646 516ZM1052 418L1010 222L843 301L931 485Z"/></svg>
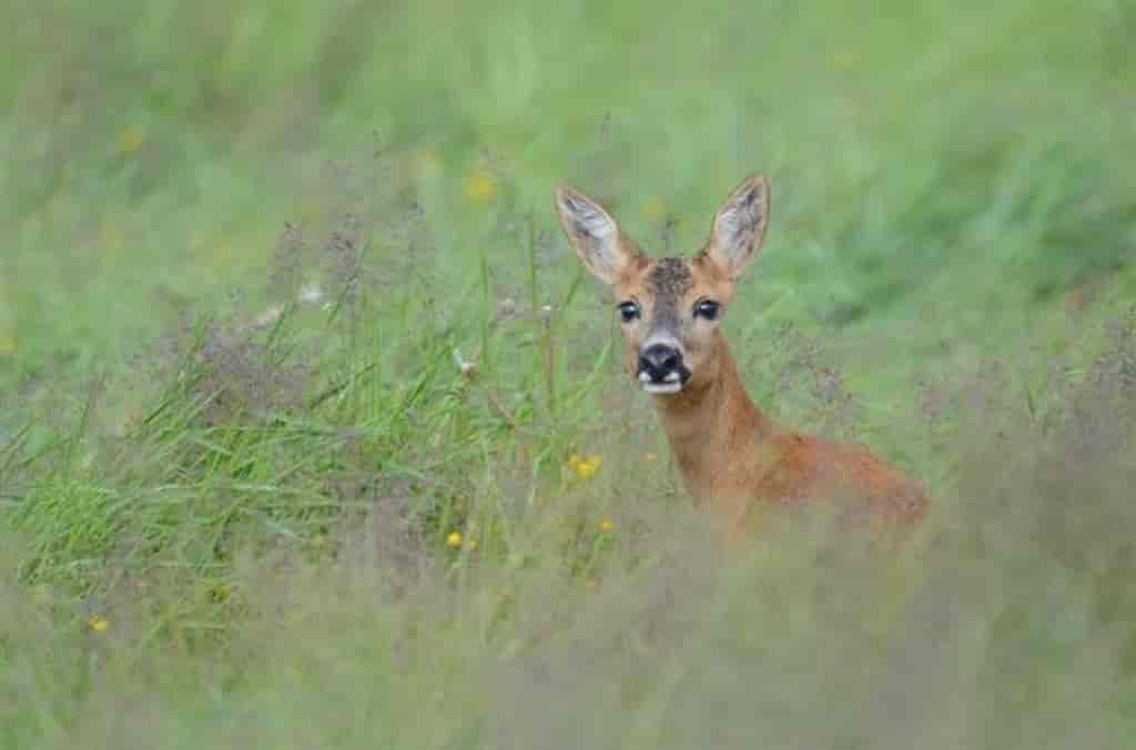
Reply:
<svg viewBox="0 0 1136 750"><path fill-rule="evenodd" d="M716 484L730 469L752 460L771 426L745 392L725 341L719 342L717 375L711 381L655 397L655 408L686 490L698 499L716 494Z"/></svg>

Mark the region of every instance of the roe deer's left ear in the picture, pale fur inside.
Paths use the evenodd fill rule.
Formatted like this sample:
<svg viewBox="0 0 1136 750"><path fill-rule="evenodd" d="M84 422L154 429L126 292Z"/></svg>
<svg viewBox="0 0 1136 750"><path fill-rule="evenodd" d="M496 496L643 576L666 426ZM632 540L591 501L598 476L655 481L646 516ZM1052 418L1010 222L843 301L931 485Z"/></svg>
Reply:
<svg viewBox="0 0 1136 750"><path fill-rule="evenodd" d="M560 225L584 267L613 284L635 259L619 225L598 202L569 185L556 192Z"/></svg>

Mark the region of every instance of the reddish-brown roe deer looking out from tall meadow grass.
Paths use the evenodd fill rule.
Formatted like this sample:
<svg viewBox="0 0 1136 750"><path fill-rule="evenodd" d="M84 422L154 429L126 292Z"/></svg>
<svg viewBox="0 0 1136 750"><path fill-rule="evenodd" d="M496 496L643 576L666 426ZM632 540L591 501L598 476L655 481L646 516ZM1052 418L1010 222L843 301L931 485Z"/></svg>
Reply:
<svg viewBox="0 0 1136 750"><path fill-rule="evenodd" d="M851 500L842 509L866 510L889 528L924 516L927 498L897 469L860 445L782 427L742 385L719 323L765 238L765 177L751 175L729 194L690 259L649 258L574 188L559 186L556 205L584 266L612 288L627 367L654 397L687 491L721 514L727 543L755 525L754 500Z"/></svg>

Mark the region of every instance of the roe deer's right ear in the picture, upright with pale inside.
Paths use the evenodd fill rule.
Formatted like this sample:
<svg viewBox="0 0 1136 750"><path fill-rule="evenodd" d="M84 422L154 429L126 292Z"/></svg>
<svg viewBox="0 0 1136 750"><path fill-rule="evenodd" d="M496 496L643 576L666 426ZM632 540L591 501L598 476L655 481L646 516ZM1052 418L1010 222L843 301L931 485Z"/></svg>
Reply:
<svg viewBox="0 0 1136 750"><path fill-rule="evenodd" d="M713 217L705 255L736 281L761 249L768 220L769 183L761 175L750 175Z"/></svg>

